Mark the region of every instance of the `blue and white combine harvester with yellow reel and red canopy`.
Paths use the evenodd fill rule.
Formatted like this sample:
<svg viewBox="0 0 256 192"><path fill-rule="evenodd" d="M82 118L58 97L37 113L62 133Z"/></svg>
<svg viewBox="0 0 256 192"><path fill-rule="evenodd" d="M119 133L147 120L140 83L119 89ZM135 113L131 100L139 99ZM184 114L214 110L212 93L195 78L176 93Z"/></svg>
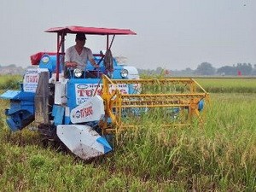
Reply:
<svg viewBox="0 0 256 192"><path fill-rule="evenodd" d="M0 96L10 101L5 113L11 131L34 122L44 138L61 141L73 154L89 160L113 150L108 136L118 138L121 131L137 126L127 120L133 116L159 109L167 119L165 126L188 125L193 116L202 121L200 111L208 94L194 79L139 79L136 67L121 65L112 57L115 36L135 32L83 26L46 32L57 34L57 51L32 55L32 65L38 67L26 70L20 90ZM85 69L96 79L84 77L78 68L64 67L65 37L78 32L107 38L106 53L94 55L100 68L89 62Z"/></svg>

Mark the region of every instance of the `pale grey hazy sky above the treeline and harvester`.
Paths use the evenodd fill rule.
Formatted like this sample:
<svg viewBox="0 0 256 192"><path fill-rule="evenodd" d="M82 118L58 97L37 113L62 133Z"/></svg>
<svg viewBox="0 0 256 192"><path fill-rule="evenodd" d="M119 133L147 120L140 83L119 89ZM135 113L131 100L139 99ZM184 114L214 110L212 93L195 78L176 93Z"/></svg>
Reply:
<svg viewBox="0 0 256 192"><path fill-rule="evenodd" d="M125 28L114 56L143 69L195 69L256 64L255 0L1 0L0 65L31 65L30 55L56 51L56 26ZM87 36L85 46L99 53L105 38ZM67 37L66 46L74 44Z"/></svg>

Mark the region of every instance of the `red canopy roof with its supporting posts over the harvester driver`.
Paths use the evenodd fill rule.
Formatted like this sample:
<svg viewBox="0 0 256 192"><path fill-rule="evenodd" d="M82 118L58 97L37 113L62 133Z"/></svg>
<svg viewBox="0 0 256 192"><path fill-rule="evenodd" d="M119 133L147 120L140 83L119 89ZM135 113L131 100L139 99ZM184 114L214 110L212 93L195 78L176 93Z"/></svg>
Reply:
<svg viewBox="0 0 256 192"><path fill-rule="evenodd" d="M97 27L86 27L86 26L64 26L64 27L53 27L49 28L45 32L55 32L57 33L57 51L56 51L56 81L59 80L60 55L65 55L65 36L75 33L84 33L86 35L103 35L107 37L106 50L111 49L113 44L113 39L116 35L136 35L136 32L132 32L130 29L115 29L115 28L97 28ZM112 35L113 38L109 43L109 36ZM102 55L104 56L104 55ZM62 56L64 58L64 56Z"/></svg>

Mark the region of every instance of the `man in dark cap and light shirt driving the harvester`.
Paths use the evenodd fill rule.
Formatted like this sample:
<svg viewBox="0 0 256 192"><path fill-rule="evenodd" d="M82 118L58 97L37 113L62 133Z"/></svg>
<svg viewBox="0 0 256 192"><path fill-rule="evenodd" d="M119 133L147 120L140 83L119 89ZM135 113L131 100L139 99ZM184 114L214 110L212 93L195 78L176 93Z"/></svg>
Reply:
<svg viewBox="0 0 256 192"><path fill-rule="evenodd" d="M92 52L89 48L84 47L86 37L84 33L76 34L76 44L66 50L65 65L71 70L74 67L79 68L83 73L85 72L86 78L96 78L95 75L85 71L87 61L90 61L91 65L98 68L96 61L93 59ZM84 76L84 74L83 74Z"/></svg>

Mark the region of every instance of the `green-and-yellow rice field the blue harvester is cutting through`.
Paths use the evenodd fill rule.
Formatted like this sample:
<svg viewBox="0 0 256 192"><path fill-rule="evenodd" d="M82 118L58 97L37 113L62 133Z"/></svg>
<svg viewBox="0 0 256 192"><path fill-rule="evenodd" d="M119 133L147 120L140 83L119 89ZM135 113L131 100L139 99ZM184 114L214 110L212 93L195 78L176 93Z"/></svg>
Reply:
<svg viewBox="0 0 256 192"><path fill-rule="evenodd" d="M1 100L1 191L256 191L256 79L196 80L211 96L203 126L161 128L149 114L91 162L10 133Z"/></svg>

